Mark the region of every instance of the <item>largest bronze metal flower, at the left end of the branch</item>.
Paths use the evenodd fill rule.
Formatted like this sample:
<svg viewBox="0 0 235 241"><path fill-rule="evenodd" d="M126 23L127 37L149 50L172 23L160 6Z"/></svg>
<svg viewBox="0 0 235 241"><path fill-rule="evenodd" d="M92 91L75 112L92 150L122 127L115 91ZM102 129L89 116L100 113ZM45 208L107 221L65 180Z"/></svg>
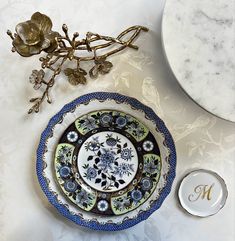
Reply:
<svg viewBox="0 0 235 241"><path fill-rule="evenodd" d="M13 39L15 50L24 57L39 54L42 50L53 52L57 48L56 37L59 33L51 30L52 22L49 17L39 12L31 19L16 25Z"/></svg>

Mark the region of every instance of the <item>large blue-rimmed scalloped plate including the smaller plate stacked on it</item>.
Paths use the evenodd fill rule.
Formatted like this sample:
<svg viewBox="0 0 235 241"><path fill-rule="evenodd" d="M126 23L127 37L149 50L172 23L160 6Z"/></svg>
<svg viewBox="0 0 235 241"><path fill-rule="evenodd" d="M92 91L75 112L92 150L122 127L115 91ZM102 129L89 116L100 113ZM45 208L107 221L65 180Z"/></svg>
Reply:
<svg viewBox="0 0 235 241"><path fill-rule="evenodd" d="M169 194L175 165L164 123L149 107L116 93L91 93L64 106L37 151L48 200L96 230L122 230L148 218Z"/></svg>

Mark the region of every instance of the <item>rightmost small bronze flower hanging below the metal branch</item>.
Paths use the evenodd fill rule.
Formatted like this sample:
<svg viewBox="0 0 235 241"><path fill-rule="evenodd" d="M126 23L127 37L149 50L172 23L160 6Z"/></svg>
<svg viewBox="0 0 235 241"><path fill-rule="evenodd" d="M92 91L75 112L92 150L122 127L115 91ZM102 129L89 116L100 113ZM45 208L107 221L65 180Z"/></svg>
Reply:
<svg viewBox="0 0 235 241"><path fill-rule="evenodd" d="M113 64L104 58L95 60L95 66L89 71L90 77L96 79L99 74L107 74L113 67Z"/></svg>

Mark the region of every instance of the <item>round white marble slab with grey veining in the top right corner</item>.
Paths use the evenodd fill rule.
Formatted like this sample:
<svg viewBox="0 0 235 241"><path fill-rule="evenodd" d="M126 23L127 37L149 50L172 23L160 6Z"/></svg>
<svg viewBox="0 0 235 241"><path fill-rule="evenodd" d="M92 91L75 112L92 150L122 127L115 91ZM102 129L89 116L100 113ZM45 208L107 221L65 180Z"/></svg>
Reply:
<svg viewBox="0 0 235 241"><path fill-rule="evenodd" d="M162 37L183 89L208 111L235 122L235 1L168 0Z"/></svg>

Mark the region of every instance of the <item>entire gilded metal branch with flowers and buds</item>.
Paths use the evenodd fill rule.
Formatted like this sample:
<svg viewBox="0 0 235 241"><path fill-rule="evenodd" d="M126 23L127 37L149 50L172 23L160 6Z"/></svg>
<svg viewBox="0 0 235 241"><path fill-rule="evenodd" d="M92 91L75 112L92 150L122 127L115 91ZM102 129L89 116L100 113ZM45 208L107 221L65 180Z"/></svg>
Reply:
<svg viewBox="0 0 235 241"><path fill-rule="evenodd" d="M45 14L36 12L31 19L16 25L16 33L10 30L7 34L12 39L12 51L19 53L23 57L46 52L44 57L40 57L41 69L33 70L29 77L34 89L42 90L40 97L30 99L33 106L28 113L39 112L44 100L51 103L49 90L54 86L56 76L62 70L72 85L85 84L87 71L81 68L82 61L92 61L93 67L88 71L91 78L109 73L113 64L106 60L112 54L122 51L126 47L138 50L138 46L132 42L143 31L148 31L146 27L132 26L121 32L116 38L102 36L96 33L87 32L86 37L78 40L79 33L75 32L72 37L68 34L68 27L63 24L63 34L52 31L52 21ZM125 37L125 40L124 40ZM99 44L96 44L99 43ZM110 48L111 47L111 48ZM109 51L104 51L109 48ZM102 54L98 51L102 50ZM84 51L87 55L84 55ZM65 62L73 61L75 68L63 68ZM44 69L49 71L45 73ZM45 76L49 76L45 78Z"/></svg>

